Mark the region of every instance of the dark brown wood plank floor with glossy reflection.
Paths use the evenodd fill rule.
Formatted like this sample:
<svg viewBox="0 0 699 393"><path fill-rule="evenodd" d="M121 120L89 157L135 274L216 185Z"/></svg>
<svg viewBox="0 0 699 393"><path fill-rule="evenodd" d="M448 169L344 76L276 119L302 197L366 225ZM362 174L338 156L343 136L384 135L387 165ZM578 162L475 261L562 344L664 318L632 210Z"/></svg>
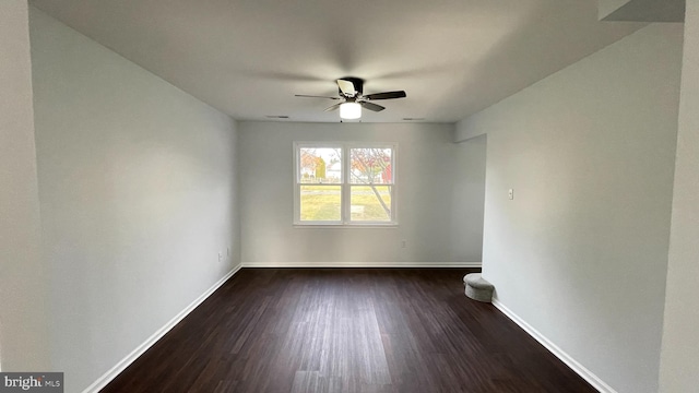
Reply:
<svg viewBox="0 0 699 393"><path fill-rule="evenodd" d="M596 392L467 272L244 269L103 392Z"/></svg>

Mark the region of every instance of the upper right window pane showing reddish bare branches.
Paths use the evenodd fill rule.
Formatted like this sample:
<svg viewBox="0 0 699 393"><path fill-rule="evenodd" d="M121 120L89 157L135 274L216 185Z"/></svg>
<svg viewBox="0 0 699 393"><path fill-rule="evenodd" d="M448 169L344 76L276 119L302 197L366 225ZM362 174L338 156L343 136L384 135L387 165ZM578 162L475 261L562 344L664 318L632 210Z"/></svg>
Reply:
<svg viewBox="0 0 699 393"><path fill-rule="evenodd" d="M390 147L351 148L350 182L354 184L392 184L393 174Z"/></svg>

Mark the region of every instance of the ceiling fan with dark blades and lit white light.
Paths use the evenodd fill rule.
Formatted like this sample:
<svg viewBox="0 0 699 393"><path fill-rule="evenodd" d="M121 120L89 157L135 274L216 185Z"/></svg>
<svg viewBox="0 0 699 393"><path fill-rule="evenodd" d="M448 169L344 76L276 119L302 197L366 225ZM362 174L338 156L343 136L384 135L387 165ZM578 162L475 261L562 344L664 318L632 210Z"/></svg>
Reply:
<svg viewBox="0 0 699 393"><path fill-rule="evenodd" d="M330 106L325 111L340 109L340 117L342 119L358 119L362 117L362 108L366 108L372 111L381 111L384 107L371 103L379 99L393 99L406 97L405 92L384 92L364 95L364 80L359 78L343 78L337 81L337 97L315 96L296 94L297 97L310 97L310 98L330 98L340 99L333 106Z"/></svg>

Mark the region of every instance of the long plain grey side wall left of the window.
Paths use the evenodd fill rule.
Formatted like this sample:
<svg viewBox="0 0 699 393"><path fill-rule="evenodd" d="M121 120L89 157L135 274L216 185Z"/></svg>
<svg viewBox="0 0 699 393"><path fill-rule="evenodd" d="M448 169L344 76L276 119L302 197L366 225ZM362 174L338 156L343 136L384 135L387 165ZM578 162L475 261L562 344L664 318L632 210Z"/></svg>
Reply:
<svg viewBox="0 0 699 393"><path fill-rule="evenodd" d="M236 126L29 16L54 367L76 392L238 264Z"/></svg>

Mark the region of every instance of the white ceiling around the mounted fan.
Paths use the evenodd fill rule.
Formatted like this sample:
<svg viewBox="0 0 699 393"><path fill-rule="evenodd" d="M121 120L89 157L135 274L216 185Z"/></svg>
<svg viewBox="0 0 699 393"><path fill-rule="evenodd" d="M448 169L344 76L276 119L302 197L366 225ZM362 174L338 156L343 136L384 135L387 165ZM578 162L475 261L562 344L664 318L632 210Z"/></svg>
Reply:
<svg viewBox="0 0 699 393"><path fill-rule="evenodd" d="M334 80L404 90L365 122L453 122L644 24L596 0L33 0L238 120L339 121Z"/></svg>

